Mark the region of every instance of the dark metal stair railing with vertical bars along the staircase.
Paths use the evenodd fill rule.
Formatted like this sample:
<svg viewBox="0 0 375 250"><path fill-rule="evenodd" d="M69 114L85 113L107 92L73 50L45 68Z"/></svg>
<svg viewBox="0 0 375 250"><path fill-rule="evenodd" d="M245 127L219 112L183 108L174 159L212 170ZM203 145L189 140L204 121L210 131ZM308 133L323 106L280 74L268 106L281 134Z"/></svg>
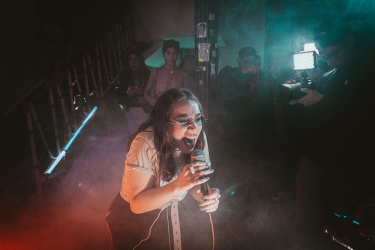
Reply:
<svg viewBox="0 0 375 250"><path fill-rule="evenodd" d="M132 22L132 15L126 15L79 60L58 77L44 80L42 90L31 93L23 102L39 198L49 162L60 156L62 144L75 138L79 123L94 102L104 99L114 87L126 63L124 55L134 42ZM81 107L75 110L77 102Z"/></svg>

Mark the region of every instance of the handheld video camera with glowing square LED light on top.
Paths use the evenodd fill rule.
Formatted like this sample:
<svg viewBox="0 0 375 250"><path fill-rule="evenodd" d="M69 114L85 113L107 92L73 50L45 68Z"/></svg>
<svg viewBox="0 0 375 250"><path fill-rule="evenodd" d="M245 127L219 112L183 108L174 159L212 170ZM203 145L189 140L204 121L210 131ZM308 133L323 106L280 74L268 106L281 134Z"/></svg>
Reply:
<svg viewBox="0 0 375 250"><path fill-rule="evenodd" d="M293 53L293 69L302 70L301 78L292 84L279 84L278 86L278 97L281 102L289 100L299 99L306 95L305 92L300 91L301 88L308 87L310 89L315 88L315 82L311 81L307 77L307 70L317 67L317 54L315 51L301 51Z"/></svg>

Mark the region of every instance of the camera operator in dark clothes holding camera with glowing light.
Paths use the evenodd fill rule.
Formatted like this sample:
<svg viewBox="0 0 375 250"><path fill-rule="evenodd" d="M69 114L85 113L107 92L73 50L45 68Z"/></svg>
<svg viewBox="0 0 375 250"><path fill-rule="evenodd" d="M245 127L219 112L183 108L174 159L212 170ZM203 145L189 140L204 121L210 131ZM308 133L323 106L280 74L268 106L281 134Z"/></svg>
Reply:
<svg viewBox="0 0 375 250"><path fill-rule="evenodd" d="M303 249L321 249L317 239L323 236L324 216L334 210L353 214L368 197L373 177L369 177L371 149L365 146L373 138L373 85L364 51L345 21L324 23L314 39L320 57L333 69L317 80L315 89L302 88L306 95L289 101L303 113L295 145L302 159L296 177L293 240Z"/></svg>

